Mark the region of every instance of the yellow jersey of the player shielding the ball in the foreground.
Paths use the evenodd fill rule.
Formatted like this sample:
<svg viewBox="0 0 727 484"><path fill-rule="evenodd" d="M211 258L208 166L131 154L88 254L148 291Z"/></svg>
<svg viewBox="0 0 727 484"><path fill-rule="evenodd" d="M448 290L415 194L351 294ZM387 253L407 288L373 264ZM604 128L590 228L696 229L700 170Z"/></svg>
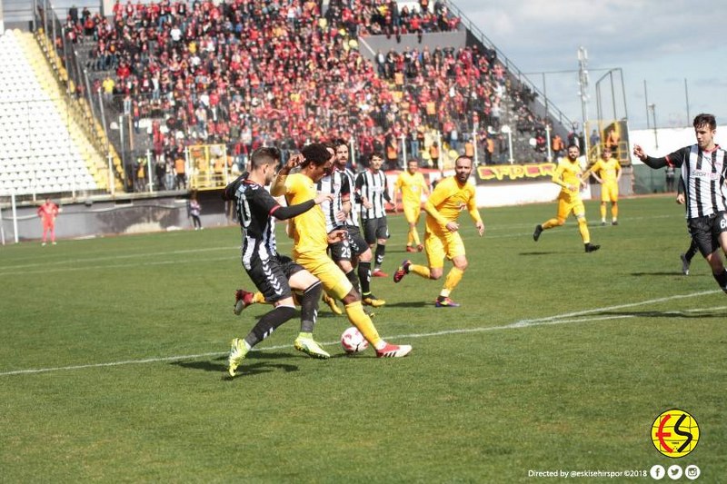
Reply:
<svg viewBox="0 0 727 484"><path fill-rule="evenodd" d="M285 200L288 205L313 200L317 194L314 181L303 173L293 173L285 179ZM315 205L308 212L294 217L293 240L295 252L326 251L328 234L325 232L325 215L321 205Z"/></svg>

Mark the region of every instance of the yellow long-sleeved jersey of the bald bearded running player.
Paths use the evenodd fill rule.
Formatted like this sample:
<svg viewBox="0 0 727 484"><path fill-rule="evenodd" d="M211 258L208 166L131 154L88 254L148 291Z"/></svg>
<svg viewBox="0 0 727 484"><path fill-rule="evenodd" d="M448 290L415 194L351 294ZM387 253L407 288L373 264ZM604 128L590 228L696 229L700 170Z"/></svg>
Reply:
<svg viewBox="0 0 727 484"><path fill-rule="evenodd" d="M474 196L474 186L470 183L460 184L453 176L437 183L429 199L424 205L427 213L426 230L444 232L447 222L456 222L463 210L470 212L474 222L481 222L480 212Z"/></svg>

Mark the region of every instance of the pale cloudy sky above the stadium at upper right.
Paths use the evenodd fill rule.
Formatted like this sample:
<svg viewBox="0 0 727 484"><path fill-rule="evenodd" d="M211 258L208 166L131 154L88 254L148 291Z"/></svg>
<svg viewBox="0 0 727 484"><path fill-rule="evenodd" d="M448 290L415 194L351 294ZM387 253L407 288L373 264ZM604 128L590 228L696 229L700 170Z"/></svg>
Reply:
<svg viewBox="0 0 727 484"><path fill-rule="evenodd" d="M541 91L544 77L549 103L579 123L578 51L583 46L588 55L587 119L597 119L599 104L602 117L612 119L615 104L615 117L628 117L631 129L646 128L647 114L648 127L653 127L654 114L659 128L691 126L700 113L727 124L723 2L452 1ZM647 104L654 106L647 109Z"/></svg>

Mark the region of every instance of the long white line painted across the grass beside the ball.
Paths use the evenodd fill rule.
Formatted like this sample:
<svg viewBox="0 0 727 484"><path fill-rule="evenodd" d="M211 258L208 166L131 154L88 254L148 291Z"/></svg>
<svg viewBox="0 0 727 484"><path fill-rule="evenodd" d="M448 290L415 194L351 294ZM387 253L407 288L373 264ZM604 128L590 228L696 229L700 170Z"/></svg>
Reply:
<svg viewBox="0 0 727 484"><path fill-rule="evenodd" d="M402 334L402 335L398 335L398 336L388 337L387 340L400 340L400 339L406 339L406 338L417 338L417 339L418 338L431 338L431 337L436 337L436 336L446 336L449 334L466 334L466 333L485 332L485 331L520 330L523 328L530 328L533 326L545 326L545 325L554 325L554 324L568 324L568 323L573 323L573 322L592 322L592 321L607 321L607 320L634 318L635 316L632 314L619 314L619 315L602 316L602 317L594 317L594 318L573 319L573 318L576 318L577 316L585 316L587 314L594 314L594 313L603 312L603 311L613 311L613 310L624 309L624 308L632 308L632 307L636 307L636 306L645 306L648 304L655 304L655 303L665 302L665 301L674 301L674 300L678 300L678 299L699 297L699 296L704 296L707 294L713 294L715 292L721 292L721 291L701 291L701 292L692 292L692 294L677 294L674 296L651 299L651 300L647 300L647 301L630 302L628 304L619 304L616 306L606 306L603 308L594 308L594 309L585 310L585 311L566 312L563 314L556 314L554 316L548 316L546 318L540 318L540 319L536 319L536 320L520 320L520 321L515 321L511 324L506 324L503 326L487 326L487 327L468 328L468 329L459 329L459 330L443 330L443 331L434 331L434 332L425 332L425 333ZM706 308L706 309L691 310L691 311L708 311L708 310L712 311L712 310L720 310L720 309L724 309L724 308L725 308L725 306L717 306L714 308ZM338 341L326 341L326 342L323 342L322 344L334 345L337 343L338 343ZM288 345L288 344L277 345L277 346L268 346L265 348L254 348L253 351L275 351L275 350L285 350L288 348L292 348L292 346ZM145 358L144 360L112 361L112 362L108 362L108 363L89 363L89 364L85 364L85 365L73 365L73 366L64 366L64 367L55 367L55 368L12 370L12 371L0 372L0 377L11 376L11 375L27 375L27 374L34 374L34 373L47 373L47 372L51 372L51 371L84 370L84 369L89 369L89 368L104 368L104 367L114 367L114 366L123 366L123 365L138 365L138 364L144 364L144 363L157 363L157 362L161 362L161 361L196 360L198 358L205 358L205 357L210 357L210 356L222 356L225 354L227 354L226 351L225 352L214 352L214 353L179 355L179 356L165 356L165 357L159 357L159 358Z"/></svg>

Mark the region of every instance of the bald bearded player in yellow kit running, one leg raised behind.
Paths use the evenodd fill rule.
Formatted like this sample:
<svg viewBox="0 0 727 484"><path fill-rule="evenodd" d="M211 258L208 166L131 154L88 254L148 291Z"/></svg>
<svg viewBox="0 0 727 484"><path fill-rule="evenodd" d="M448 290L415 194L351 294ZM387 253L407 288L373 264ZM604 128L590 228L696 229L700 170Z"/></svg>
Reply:
<svg viewBox="0 0 727 484"><path fill-rule="evenodd" d="M467 269L467 258L464 254L464 243L460 236L460 225L457 219L463 210L477 227L480 237L484 233L484 223L477 211L474 198L474 187L467 183L473 170L472 158L460 156L454 162L454 176L437 183L429 199L424 204L426 212L426 230L424 232L424 249L429 267L413 264L409 260L402 262L393 274L393 282L400 282L408 273L415 273L424 279L440 279L443 275L444 258L451 260L454 267L447 273L444 287L436 302L437 308L455 308L459 306L450 299L457 284L462 281L464 270Z"/></svg>

